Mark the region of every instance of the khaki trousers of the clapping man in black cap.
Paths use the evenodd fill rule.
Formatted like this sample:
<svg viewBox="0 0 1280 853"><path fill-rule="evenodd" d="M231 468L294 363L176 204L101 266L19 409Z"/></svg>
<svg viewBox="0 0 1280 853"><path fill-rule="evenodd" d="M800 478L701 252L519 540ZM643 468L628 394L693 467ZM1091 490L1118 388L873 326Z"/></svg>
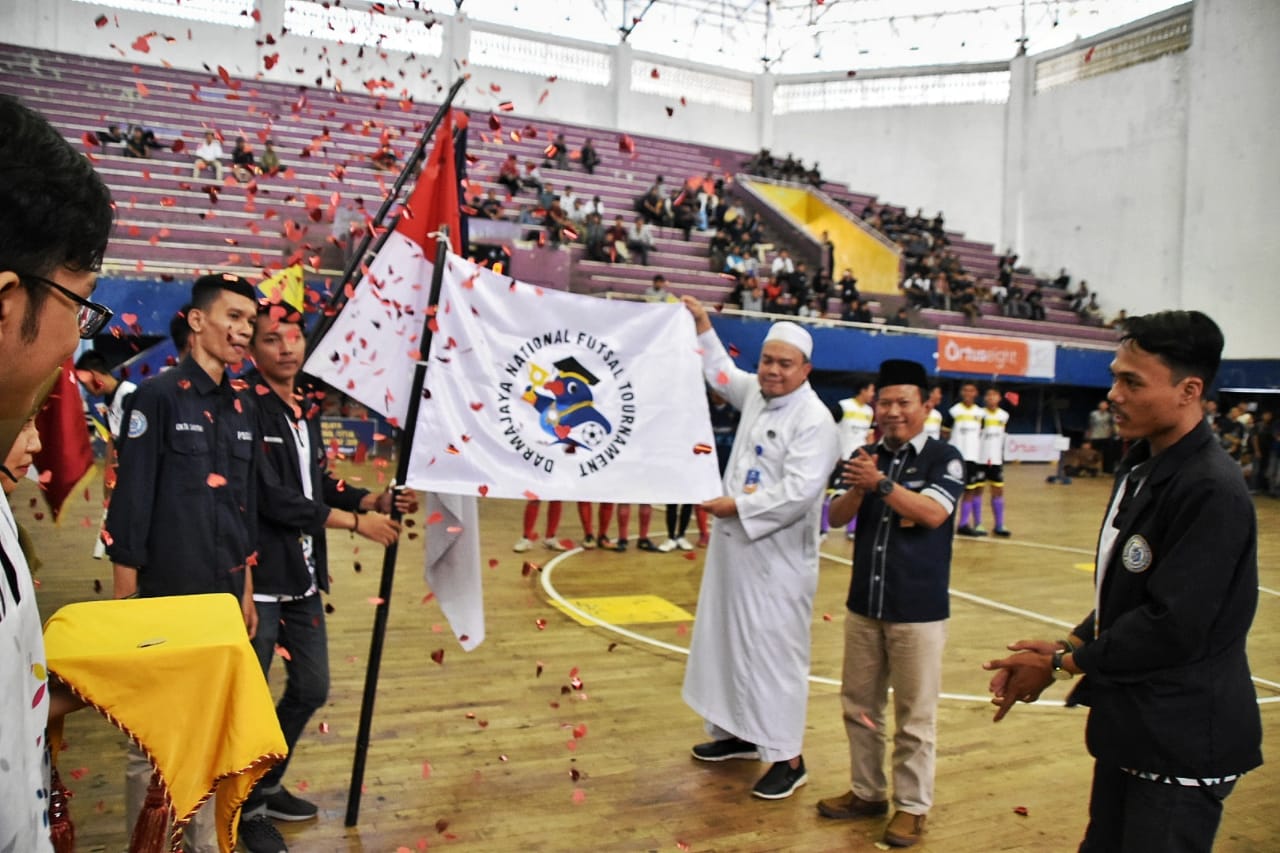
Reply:
<svg viewBox="0 0 1280 853"><path fill-rule="evenodd" d="M947 624L886 622L845 613L841 704L854 794L888 799L884 710L893 688L893 804L910 815L933 806L938 693Z"/></svg>

